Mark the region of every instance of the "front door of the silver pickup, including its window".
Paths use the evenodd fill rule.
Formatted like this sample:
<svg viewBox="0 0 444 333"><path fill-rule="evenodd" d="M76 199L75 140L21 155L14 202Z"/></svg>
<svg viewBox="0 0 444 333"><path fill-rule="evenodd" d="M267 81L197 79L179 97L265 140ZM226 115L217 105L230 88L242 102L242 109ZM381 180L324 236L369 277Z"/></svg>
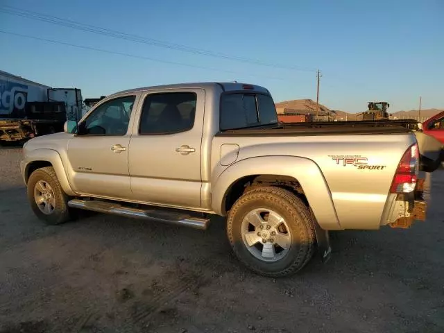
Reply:
<svg viewBox="0 0 444 333"><path fill-rule="evenodd" d="M136 96L101 103L78 124L69 141L68 160L74 191L90 196L130 198L128 146L130 114Z"/></svg>

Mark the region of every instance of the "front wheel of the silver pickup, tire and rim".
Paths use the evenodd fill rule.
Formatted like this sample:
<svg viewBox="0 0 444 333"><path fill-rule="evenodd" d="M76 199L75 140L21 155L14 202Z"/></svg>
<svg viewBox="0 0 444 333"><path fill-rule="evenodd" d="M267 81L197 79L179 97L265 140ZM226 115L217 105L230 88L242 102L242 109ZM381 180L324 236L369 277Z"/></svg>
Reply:
<svg viewBox="0 0 444 333"><path fill-rule="evenodd" d="M62 190L53 167L44 167L31 173L27 192L34 214L46 224L56 225L71 219L67 205L69 197ZM37 205L37 198L44 198L46 204ZM49 208L46 210L46 207Z"/></svg>

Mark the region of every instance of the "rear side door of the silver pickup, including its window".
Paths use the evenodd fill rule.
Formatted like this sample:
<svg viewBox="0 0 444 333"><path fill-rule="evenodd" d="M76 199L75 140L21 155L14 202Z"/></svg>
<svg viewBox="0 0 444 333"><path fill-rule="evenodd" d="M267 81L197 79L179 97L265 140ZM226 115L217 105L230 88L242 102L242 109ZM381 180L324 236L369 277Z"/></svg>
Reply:
<svg viewBox="0 0 444 333"><path fill-rule="evenodd" d="M135 200L200 207L204 103L203 89L146 94L128 156Z"/></svg>

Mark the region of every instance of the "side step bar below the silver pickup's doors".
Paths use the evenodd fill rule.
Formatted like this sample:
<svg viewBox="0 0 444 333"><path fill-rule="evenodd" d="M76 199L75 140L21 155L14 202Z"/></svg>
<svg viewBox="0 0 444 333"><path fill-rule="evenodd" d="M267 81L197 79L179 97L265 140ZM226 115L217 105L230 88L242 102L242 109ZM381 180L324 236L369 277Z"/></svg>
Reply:
<svg viewBox="0 0 444 333"><path fill-rule="evenodd" d="M119 203L110 203L100 200L73 199L68 201L68 206L78 208L80 210L92 210L93 212L99 213L148 219L162 223L173 223L176 225L185 225L187 227L200 230L207 229L208 225L210 224L210 219L191 216L190 214L184 212L162 209L141 210L133 207L125 207Z"/></svg>

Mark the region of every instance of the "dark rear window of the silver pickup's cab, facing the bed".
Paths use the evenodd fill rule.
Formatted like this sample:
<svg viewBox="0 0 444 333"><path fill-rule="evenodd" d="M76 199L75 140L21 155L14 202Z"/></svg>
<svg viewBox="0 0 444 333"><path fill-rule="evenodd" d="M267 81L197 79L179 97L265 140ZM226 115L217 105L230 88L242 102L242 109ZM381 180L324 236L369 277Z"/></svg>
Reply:
<svg viewBox="0 0 444 333"><path fill-rule="evenodd" d="M234 130L277 122L275 105L270 96L239 93L222 95L221 130Z"/></svg>

